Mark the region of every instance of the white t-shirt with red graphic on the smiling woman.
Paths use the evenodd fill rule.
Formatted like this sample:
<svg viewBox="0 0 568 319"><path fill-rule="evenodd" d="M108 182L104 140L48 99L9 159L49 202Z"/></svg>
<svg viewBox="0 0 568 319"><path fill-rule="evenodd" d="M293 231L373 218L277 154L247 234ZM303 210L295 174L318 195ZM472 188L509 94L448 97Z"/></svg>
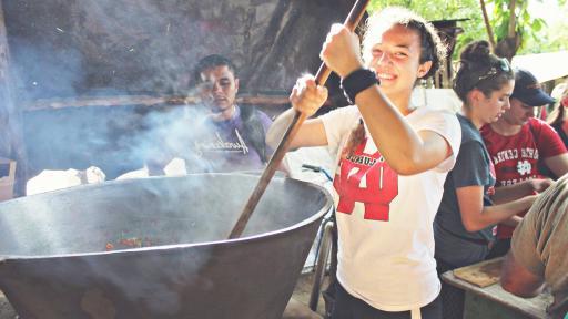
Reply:
<svg viewBox="0 0 568 319"><path fill-rule="evenodd" d="M320 119L329 152L337 154L333 196L341 285L384 311L405 311L432 302L440 290L433 222L462 140L455 114L419 107L406 116L416 132L436 132L453 151L437 167L412 176L399 176L388 166L366 127L365 141L342 161L351 132L362 119L356 106Z"/></svg>

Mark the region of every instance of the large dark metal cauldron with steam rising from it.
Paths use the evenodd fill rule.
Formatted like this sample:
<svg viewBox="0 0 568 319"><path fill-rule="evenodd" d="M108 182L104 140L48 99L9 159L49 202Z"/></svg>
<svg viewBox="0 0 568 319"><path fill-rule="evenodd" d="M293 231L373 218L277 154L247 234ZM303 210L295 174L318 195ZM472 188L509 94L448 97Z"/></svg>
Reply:
<svg viewBox="0 0 568 319"><path fill-rule="evenodd" d="M224 240L256 182L155 177L0 203L0 289L23 319L280 318L332 202L276 178L243 238ZM158 246L106 251L124 239Z"/></svg>

